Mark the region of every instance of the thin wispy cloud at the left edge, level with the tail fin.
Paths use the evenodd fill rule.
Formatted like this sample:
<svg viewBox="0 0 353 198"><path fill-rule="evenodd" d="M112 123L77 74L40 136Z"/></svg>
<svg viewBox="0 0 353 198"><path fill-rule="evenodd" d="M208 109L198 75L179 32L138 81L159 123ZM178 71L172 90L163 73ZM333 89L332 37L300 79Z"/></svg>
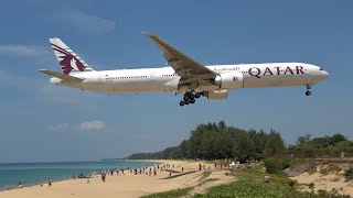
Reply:
<svg viewBox="0 0 353 198"><path fill-rule="evenodd" d="M40 57L46 56L49 50L38 45L0 45L0 56L12 56L12 57Z"/></svg>

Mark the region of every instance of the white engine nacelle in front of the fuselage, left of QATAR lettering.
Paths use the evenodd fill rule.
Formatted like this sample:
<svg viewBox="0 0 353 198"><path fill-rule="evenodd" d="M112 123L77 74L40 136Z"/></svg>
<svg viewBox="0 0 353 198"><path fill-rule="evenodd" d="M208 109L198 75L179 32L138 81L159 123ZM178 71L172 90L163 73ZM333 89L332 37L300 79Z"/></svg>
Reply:
<svg viewBox="0 0 353 198"><path fill-rule="evenodd" d="M240 89L244 85L243 74L222 73L214 79L214 84L220 86L221 89Z"/></svg>

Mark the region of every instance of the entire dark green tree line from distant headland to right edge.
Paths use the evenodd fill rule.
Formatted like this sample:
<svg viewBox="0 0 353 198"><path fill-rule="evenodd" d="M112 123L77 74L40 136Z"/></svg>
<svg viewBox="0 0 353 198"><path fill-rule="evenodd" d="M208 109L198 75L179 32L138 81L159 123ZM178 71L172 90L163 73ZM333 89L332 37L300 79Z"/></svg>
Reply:
<svg viewBox="0 0 353 198"><path fill-rule="evenodd" d="M199 124L191 131L189 140L184 140L178 146L167 147L154 153L136 153L129 160L157 160L157 158L236 158L239 162L248 160L260 161L274 155L308 155L313 152L329 150L353 153L353 142L342 134L333 136L315 138L310 135L298 138L296 145L286 146L279 132L270 130L243 130L226 125L224 121L218 123Z"/></svg>

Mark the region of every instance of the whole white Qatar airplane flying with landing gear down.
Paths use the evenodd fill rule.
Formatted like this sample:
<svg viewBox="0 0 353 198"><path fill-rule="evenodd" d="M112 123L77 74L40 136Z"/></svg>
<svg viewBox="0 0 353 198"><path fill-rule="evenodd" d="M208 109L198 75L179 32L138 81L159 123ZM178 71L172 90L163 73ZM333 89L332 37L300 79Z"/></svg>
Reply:
<svg viewBox="0 0 353 198"><path fill-rule="evenodd" d="M108 94L182 92L180 106L201 96L226 99L228 90L242 88L306 86L329 77L321 67L306 63L266 63L204 66L157 35L142 33L162 51L168 67L94 70L60 38L50 38L63 73L41 69L53 76L51 84Z"/></svg>

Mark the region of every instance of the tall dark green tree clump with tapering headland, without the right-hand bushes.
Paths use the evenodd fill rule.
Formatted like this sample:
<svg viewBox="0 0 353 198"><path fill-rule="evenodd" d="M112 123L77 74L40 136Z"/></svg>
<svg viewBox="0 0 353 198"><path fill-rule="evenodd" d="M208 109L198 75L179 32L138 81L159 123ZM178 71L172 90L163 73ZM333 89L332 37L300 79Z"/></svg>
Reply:
<svg viewBox="0 0 353 198"><path fill-rule="evenodd" d="M237 158L261 160L266 155L286 151L280 134L274 130L265 133L263 130L242 130L227 127L223 121L218 124L200 124L191 132L189 140L180 145L168 147L156 153L136 153L130 160L140 158Z"/></svg>

